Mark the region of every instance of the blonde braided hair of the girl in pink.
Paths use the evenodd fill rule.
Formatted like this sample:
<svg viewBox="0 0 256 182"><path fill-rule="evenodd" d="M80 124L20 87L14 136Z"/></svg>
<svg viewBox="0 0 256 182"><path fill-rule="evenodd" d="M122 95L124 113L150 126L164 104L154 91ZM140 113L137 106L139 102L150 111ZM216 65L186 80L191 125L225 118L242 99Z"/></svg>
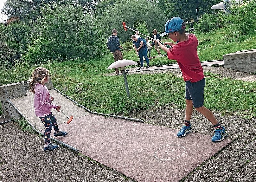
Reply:
<svg viewBox="0 0 256 182"><path fill-rule="evenodd" d="M44 81L45 77L49 75L49 70L46 68L38 67L36 68L32 76L30 77L30 84L29 86L31 87L29 89L30 92L35 93L35 85L37 82L42 82Z"/></svg>

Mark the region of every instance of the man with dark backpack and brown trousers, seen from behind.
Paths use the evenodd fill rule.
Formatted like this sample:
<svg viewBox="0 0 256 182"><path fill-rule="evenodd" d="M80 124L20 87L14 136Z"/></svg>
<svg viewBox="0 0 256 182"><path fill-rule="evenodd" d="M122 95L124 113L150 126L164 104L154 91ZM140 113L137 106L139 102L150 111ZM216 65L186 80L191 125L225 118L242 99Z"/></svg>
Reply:
<svg viewBox="0 0 256 182"><path fill-rule="evenodd" d="M121 49L123 49L123 46L121 46L121 44L119 42L119 38L117 37L117 29L116 28L114 28L112 30L112 35L107 40L107 47L110 50L110 52L113 54L114 61L123 59L123 55L121 52ZM121 75L119 73L118 68L116 68L115 70L116 70L117 75Z"/></svg>

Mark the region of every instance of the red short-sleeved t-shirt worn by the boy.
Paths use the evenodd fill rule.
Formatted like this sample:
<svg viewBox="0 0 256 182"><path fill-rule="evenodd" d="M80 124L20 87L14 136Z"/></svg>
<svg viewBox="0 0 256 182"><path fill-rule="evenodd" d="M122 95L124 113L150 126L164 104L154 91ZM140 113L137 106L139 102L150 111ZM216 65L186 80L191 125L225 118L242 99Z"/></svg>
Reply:
<svg viewBox="0 0 256 182"><path fill-rule="evenodd" d="M177 61L184 81L197 82L204 78L203 68L197 55L198 40L194 34L188 40L178 42L167 51L168 59Z"/></svg>

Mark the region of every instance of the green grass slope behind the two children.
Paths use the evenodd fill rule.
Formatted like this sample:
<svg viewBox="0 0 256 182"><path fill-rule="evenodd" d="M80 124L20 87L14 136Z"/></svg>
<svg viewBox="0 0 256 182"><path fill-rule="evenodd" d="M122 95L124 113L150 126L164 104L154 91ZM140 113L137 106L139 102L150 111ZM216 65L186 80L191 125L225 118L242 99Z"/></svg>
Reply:
<svg viewBox="0 0 256 182"><path fill-rule="evenodd" d="M256 32L248 36L233 36L230 29L209 33L194 32L199 40L198 54L201 61L223 59L224 54L256 47ZM169 41L168 39L163 42ZM237 43L236 41L239 41ZM130 42L131 43L131 42ZM162 50L161 50L162 51ZM162 52L164 54L164 52ZM152 49L152 56L157 52ZM124 51L125 59L137 61L135 51ZM134 108L148 109L172 105L185 108L185 83L172 73L127 75L130 98L127 97L122 76L105 76L114 72L107 67L113 63L108 53L97 59L75 59L62 63L29 66L18 64L16 68L2 70L0 85L28 80L38 66L50 70L54 87L79 104L96 112L127 115ZM175 63L166 57L150 60L150 65ZM205 73L205 106L223 113L238 113L245 117L256 116L256 82L243 82ZM7 79L6 79L7 78ZM0 110L0 113L2 111Z"/></svg>

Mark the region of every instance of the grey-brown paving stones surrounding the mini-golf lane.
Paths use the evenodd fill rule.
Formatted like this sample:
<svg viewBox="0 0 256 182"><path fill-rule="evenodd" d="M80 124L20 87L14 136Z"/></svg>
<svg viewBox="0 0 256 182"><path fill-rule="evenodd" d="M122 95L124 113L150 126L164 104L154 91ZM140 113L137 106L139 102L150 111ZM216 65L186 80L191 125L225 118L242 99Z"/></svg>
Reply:
<svg viewBox="0 0 256 182"><path fill-rule="evenodd" d="M250 77L247 73L218 67L204 67L204 71L233 79ZM179 69L173 72L180 74ZM184 113L184 109L173 109L169 106L131 113L128 117L143 118L148 123L179 129ZM239 115L214 114L228 130L228 139L234 141L203 162L181 182L256 182L256 118L244 119ZM210 122L201 114L195 111L193 118L194 132L213 134ZM54 182L135 182L66 147L44 153L42 143L43 137L22 132L17 123L1 124L0 182L46 179ZM194 156L188 156L188 160L191 157Z"/></svg>

